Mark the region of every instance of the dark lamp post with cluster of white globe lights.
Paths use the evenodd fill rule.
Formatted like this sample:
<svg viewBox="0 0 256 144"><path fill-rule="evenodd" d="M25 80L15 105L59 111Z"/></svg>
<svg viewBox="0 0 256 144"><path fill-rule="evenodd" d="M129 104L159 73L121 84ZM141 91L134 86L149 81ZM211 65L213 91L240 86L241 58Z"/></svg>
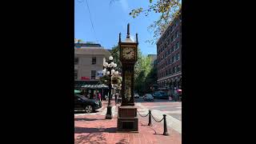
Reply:
<svg viewBox="0 0 256 144"><path fill-rule="evenodd" d="M106 119L111 119L112 118L112 106L110 104L110 98L112 97L111 95L111 89L112 89L112 84L111 84L111 77L113 74L118 74L118 71L115 71L114 68L117 67L118 65L116 63L113 62L113 57L110 56L109 61L108 62L104 62L103 63L104 69L102 70L103 74L108 75L109 76L109 82L108 82L108 86L109 86L109 102L108 102L108 106L107 106L107 111L106 111Z"/></svg>

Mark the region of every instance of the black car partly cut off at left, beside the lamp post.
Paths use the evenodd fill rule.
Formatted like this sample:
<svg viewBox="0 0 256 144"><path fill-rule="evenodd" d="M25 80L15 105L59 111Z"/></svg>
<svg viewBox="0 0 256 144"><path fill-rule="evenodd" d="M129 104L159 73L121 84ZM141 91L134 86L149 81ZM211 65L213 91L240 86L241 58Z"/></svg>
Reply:
<svg viewBox="0 0 256 144"><path fill-rule="evenodd" d="M89 99L83 95L74 94L74 110L86 110L86 113L95 112L102 107L102 102Z"/></svg>

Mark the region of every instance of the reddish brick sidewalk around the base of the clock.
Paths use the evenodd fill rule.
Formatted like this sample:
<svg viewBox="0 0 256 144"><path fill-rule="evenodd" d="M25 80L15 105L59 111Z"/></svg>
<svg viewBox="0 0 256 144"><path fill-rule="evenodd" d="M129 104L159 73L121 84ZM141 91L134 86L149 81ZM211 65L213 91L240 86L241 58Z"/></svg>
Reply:
<svg viewBox="0 0 256 144"><path fill-rule="evenodd" d="M114 105L114 102L111 102ZM102 102L102 107L106 102ZM116 107L116 110L118 106ZM181 144L182 135L168 128L169 136L162 135L163 126L154 122L153 126L147 126L148 117L138 116L138 133L117 133L117 115L112 119L105 119L105 115L79 115L74 117L74 143L158 143L158 144Z"/></svg>

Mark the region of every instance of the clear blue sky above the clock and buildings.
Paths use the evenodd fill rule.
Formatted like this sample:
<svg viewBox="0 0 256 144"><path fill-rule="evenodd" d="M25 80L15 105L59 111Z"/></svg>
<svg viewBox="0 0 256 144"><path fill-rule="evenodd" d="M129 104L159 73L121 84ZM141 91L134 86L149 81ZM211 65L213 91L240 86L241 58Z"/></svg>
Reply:
<svg viewBox="0 0 256 144"><path fill-rule="evenodd" d="M142 54L157 54L156 45L151 45L146 40L153 39L153 32L147 30L147 27L158 18L158 14L150 13L148 17L141 14L137 18L129 15L131 10L138 7L146 9L148 4L148 0L119 0L112 4L110 0L75 0L74 38L82 39L84 42L97 42L104 48L111 49L118 45L120 32L122 41L125 40L129 22L130 38L135 39L135 34L138 33L138 47Z"/></svg>

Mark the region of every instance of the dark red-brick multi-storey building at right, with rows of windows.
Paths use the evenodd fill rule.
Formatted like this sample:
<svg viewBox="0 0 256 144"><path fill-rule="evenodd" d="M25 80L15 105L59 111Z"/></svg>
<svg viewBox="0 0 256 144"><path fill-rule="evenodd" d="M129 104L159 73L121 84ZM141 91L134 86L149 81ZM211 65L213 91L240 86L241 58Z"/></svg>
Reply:
<svg viewBox="0 0 256 144"><path fill-rule="evenodd" d="M182 88L182 14L174 18L157 42L158 87Z"/></svg>

